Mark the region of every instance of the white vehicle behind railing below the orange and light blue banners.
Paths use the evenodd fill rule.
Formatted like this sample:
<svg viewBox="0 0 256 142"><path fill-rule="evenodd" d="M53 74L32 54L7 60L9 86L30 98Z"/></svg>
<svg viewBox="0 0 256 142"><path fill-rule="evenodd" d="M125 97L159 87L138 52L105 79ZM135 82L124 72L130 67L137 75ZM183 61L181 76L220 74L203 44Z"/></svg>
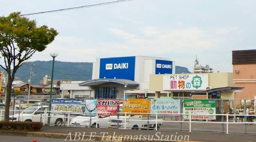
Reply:
<svg viewBox="0 0 256 142"><path fill-rule="evenodd" d="M108 126L109 127L117 127L117 122L119 122L119 128L124 128L125 116L119 116L119 120L117 116L110 116ZM122 119L122 120L120 120ZM128 115L126 116L126 129L155 129L156 121L154 118L143 117L142 115ZM162 126L162 119L158 119L157 128L159 129Z"/></svg>

